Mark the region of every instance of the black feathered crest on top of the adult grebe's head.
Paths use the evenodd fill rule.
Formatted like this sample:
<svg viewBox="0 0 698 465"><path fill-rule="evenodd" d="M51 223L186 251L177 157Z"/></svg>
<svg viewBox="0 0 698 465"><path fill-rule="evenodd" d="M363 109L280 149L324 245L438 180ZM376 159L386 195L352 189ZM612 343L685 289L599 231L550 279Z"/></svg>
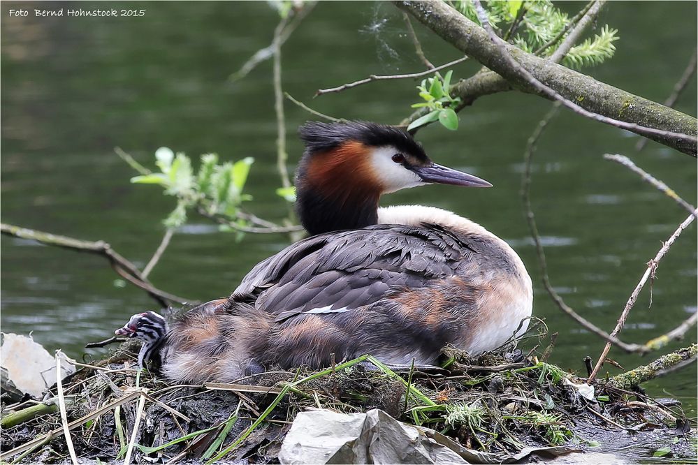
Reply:
<svg viewBox="0 0 698 465"><path fill-rule="evenodd" d="M369 147L392 145L400 152L411 154L419 160L428 157L412 135L402 128L368 121L342 121L324 123L308 121L299 129L300 139L305 142L305 154L314 154L334 149L356 141Z"/></svg>

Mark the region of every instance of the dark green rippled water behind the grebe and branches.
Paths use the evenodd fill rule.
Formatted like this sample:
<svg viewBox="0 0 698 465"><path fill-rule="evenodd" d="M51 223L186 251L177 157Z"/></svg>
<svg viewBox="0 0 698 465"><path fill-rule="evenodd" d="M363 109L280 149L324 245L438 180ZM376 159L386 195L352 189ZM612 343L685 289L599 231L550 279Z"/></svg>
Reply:
<svg viewBox="0 0 698 465"><path fill-rule="evenodd" d="M577 3L567 3L570 11ZM145 8L140 18L37 18L33 8ZM10 8L30 10L9 17ZM620 29L618 52L586 73L663 101L696 43L695 2L612 2L599 25ZM286 215L274 190L275 116L272 68L266 62L244 80L228 75L270 43L277 13L264 2L9 3L1 6L2 221L28 228L103 239L145 265L163 234L171 198L153 186L129 184L131 168L114 153L122 147L152 165L167 146L198 157L254 156L248 182L252 212ZM430 59L458 53L418 29ZM379 82L311 100L314 91L372 73L421 70L400 15L389 3L321 3L284 45L284 89L319 111L344 118L396 122L415 101L413 82ZM467 77L475 64L456 68ZM695 115L692 82L677 108ZM525 141L550 103L517 93L482 98L460 115L457 133L431 127L419 133L440 163L488 179L494 189L429 186L384 198L384 204L421 203L469 216L507 239L535 283L535 314L559 332L553 361L583 371L586 355L603 342L556 309L539 282L518 189ZM301 152L295 131L310 116L286 103L291 164ZM641 167L696 200L695 159L562 111L535 158L532 200L547 245L551 280L583 316L611 330L627 297L685 219L685 212L619 165L606 152L631 156ZM242 276L288 244L283 235L248 235L238 243L203 219L177 232L150 276L159 288L196 300L228 295ZM33 332L49 350L74 357L87 341L106 339L131 314L153 308L142 291L115 286L99 256L2 237L2 331ZM622 333L643 343L696 311L696 228L691 226L662 261L653 305L644 291ZM686 341L695 341L695 329ZM94 357L100 353L90 351ZM646 362L613 350L625 367ZM617 370L609 367L611 373ZM681 397L695 417L695 367L648 383L653 394ZM662 394L663 395L663 394Z"/></svg>

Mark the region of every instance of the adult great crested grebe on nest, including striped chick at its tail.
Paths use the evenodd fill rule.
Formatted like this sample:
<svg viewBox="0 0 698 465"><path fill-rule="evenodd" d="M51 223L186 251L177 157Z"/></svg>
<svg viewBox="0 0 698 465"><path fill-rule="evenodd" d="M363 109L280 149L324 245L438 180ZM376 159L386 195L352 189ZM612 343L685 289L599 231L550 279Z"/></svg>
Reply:
<svg viewBox="0 0 698 465"><path fill-rule="evenodd" d="M506 242L442 209L378 206L408 187L488 182L432 163L393 126L309 122L300 138L297 207L312 237L169 329L152 311L131 317L116 333L143 340L139 364L189 383L326 367L330 354L428 365L447 344L481 353L526 330L531 279Z"/></svg>

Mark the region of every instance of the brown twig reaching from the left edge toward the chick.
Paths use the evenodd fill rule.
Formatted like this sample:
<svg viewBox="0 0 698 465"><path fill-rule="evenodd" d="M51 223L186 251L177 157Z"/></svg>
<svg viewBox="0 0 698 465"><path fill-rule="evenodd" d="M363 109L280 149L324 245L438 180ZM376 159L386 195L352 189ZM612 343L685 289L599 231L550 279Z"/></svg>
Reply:
<svg viewBox="0 0 698 465"><path fill-rule="evenodd" d="M135 286L145 290L163 307L167 307L169 302L177 302L180 304L194 302L192 300L185 299L184 297L178 297L177 295L166 293L165 291L152 286L150 281L143 278L143 275L140 273L136 265L133 265L133 263L131 263L129 260L126 260L126 258L116 253L116 251L114 251L106 242L83 241L73 237L54 235L50 232L21 228L20 226L14 226L6 223L0 223L0 233L20 237L21 239L31 239L36 242L41 242L41 244L59 246L82 252L97 253L101 256L105 256L109 260L110 265L112 265L115 272L124 277L124 279L133 283Z"/></svg>

